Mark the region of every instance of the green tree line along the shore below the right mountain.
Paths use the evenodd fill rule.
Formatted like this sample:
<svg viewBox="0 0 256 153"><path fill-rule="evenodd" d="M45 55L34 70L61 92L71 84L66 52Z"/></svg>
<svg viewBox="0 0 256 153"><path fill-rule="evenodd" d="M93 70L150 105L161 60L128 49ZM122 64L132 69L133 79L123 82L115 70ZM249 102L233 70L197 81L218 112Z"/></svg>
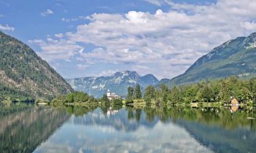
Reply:
<svg viewBox="0 0 256 153"><path fill-rule="evenodd" d="M127 101L141 99L141 88L128 88ZM137 95L139 95L137 97ZM157 101L162 104L193 103L193 102L221 102L228 103L236 98L241 103L253 103L256 101L256 78L251 80L238 80L237 77L229 77L221 80L207 80L196 84L186 84L168 88L165 84L155 88L147 86L143 95L146 103Z"/></svg>

